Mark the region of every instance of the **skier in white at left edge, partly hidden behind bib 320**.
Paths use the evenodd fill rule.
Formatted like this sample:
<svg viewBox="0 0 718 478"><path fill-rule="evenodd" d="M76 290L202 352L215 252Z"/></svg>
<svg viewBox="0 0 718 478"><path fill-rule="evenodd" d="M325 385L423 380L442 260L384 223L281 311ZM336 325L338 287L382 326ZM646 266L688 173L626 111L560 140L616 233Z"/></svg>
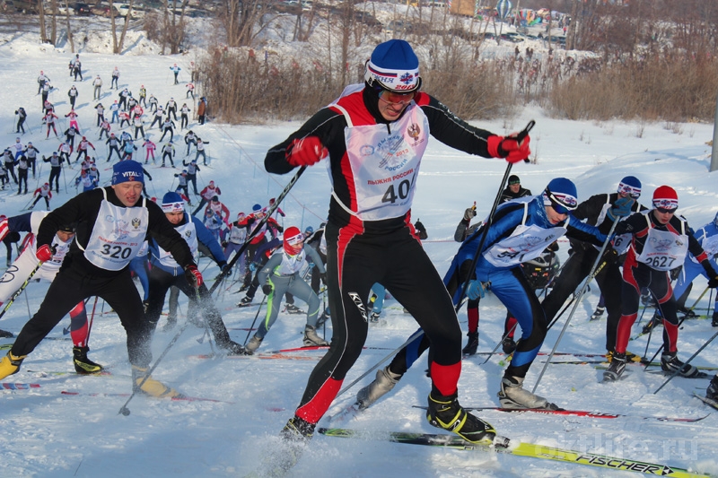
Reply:
<svg viewBox="0 0 718 478"><path fill-rule="evenodd" d="M7 268L2 277L0 277L0 305L7 301L15 291L17 291L22 282L24 282L31 271L39 264L37 256L37 241L35 237L39 230L39 224L47 216L48 213L24 213L18 216L3 219L0 221L0 240L10 232L29 232L22 241L24 248L22 253L15 259L13 265ZM52 247L55 249L50 260L45 261L39 266L38 271L32 276L34 279L44 279L52 282L60 270L63 259L70 248L70 243L74 239L75 224L66 224L61 226L55 237L52 239ZM0 336L2 335L0 331ZM97 373L101 371L102 366L87 358L87 352L90 348L87 346L87 312L84 308L84 301L80 302L70 310L70 336L73 340L73 363L74 370L77 373ZM9 336L13 336L12 334Z"/></svg>

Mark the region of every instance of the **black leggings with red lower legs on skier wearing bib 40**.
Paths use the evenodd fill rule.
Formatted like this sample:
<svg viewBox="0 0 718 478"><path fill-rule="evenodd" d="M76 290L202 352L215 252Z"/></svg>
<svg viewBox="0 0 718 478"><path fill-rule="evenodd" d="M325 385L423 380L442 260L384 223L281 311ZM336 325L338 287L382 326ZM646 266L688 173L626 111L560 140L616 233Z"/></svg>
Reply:
<svg viewBox="0 0 718 478"><path fill-rule="evenodd" d="M297 409L309 422L318 422L326 413L362 352L369 328L365 300L374 282L389 289L429 337L433 389L441 395L456 393L461 329L441 276L409 226L381 235L360 234L358 229L340 229L330 222L325 230L333 336Z"/></svg>

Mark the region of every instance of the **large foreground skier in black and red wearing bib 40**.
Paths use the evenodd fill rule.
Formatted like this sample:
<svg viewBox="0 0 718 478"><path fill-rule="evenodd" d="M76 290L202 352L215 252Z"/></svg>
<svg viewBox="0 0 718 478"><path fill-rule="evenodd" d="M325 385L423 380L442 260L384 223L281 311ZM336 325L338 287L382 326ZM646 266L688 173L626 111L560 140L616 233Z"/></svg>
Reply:
<svg viewBox="0 0 718 478"><path fill-rule="evenodd" d="M512 162L529 156L530 138L519 143L469 126L420 91L419 60L404 40L377 46L364 79L271 148L265 159L267 171L285 174L327 158L333 183L325 231L332 344L282 435L311 437L362 352L368 332L365 301L380 282L431 340L427 420L471 442L492 442L494 428L459 404L461 329L451 296L411 224L411 204L429 135L469 154Z"/></svg>

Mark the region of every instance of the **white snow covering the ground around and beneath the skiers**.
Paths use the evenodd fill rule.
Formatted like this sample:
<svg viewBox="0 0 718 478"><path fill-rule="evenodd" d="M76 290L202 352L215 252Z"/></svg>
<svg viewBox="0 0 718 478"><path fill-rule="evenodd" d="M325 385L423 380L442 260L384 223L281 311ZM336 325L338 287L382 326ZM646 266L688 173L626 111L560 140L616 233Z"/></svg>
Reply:
<svg viewBox="0 0 718 478"><path fill-rule="evenodd" d="M50 100L57 107L58 116L69 110L66 91L71 82L67 62L72 56L66 51L39 47L30 34L17 38L4 37L0 42L0 78L3 83L0 111L0 146L14 143L13 111L23 106L30 114L26 126L31 133L22 135L22 142L32 141L42 154L57 149L58 141L45 140L40 131L40 99L36 96L35 79L44 70L57 87ZM83 53L85 80L76 83L80 91L79 122L83 135L97 148L100 169L105 162L104 142L97 140L95 111L92 108L92 87L95 74L101 74L109 84L109 73L118 65L122 74L120 88L138 91L144 84L162 104L170 97L180 105L185 99L188 76L188 56L109 56ZM170 66L183 68L180 84L171 82ZM116 98L117 92L103 88L101 101L105 106ZM338 93L338 91L337 91ZM188 103L191 104L191 103ZM211 99L210 99L211 106ZM449 105L451 107L451 105ZM718 210L714 174L708 173L710 147L705 142L713 135L712 125L638 124L623 122L568 122L544 117L537 109L525 109L517 117L499 118L484 122L485 127L498 134L520 130L528 120L536 119L531 134L531 149L536 164L519 164L513 172L521 177L524 187L538 193L551 178L572 178L579 189L579 199L604 192L612 192L617 182L627 174L643 181L642 202L650 204L655 187L669 184L679 192L680 213L689 223L699 227L713 220ZM64 125L66 127L66 125ZM223 202L232 210L249 212L255 203L267 204L276 197L291 178L269 176L262 167L267 148L285 138L297 123L266 126L229 126L208 124L190 127L209 141L210 167L202 168L200 185L209 180L222 189ZM65 130L63 127L63 131ZM114 129L113 131L117 131ZM158 130L148 135L157 141ZM184 132L182 132L184 134ZM178 136L175 136L178 138ZM184 158L181 139L178 161ZM144 157L144 152L143 152ZM159 159L159 155L158 155ZM159 164L159 163L158 163ZM452 151L441 143L430 143L418 183L414 204L415 219L425 224L429 239L425 249L440 273L448 267L458 248L452 240L453 230L463 210L477 202L479 217L488 213L500 187L506 168L504 161L469 157ZM159 169L149 165L153 181L148 190L161 197L176 184L174 173L179 169ZM74 196L74 176L78 168L66 169L60 193L53 197L57 207ZM31 189L48 178L47 165L31 179ZM109 179L109 170L101 170L101 182ZM31 196L15 196L16 191L0 192L0 213L19 213ZM307 170L282 204L286 213L285 226L319 226L326 217L329 184L324 168ZM40 206L41 204L39 204ZM561 243L559 254L567 256L568 246ZM215 265L201 264L207 279L217 273ZM0 327L19 332L39 307L45 283L31 283L26 298L20 297L0 320ZM138 284L139 287L139 284ZM705 288L703 279L696 286L688 304L692 304ZM225 324L232 338L244 342L257 307L237 309L234 305L242 294L223 291L217 297ZM261 294L255 299L261 300ZM598 300L593 288L577 309L559 352L603 353L605 321L589 322ZM183 299L181 309L186 309ZM92 301L90 303L92 307ZM698 308L708 307L707 294ZM264 310L260 312L262 315ZM646 312L644 322L652 313ZM494 297L481 304L481 339L479 352L492 350L503 332L503 306ZM466 327L466 312L460 312L460 322ZM190 355L209 353L206 340L199 343L202 331L188 328L155 371L155 377L177 387L187 395L214 398L230 403L170 402L137 396L130 404L132 413L118 414L126 398L116 395L130 391L129 364L125 334L118 319L104 306L97 304L92 326L91 358L106 364L111 376L78 377L70 372L72 343L63 335L65 319L48 340L23 363L17 375L3 383L39 384L31 390L1 390L0 403L0 461L2 476L237 476L255 468L258 456L272 442L278 430L293 414L299 402L311 368L321 352L297 352L307 360L258 360L257 358L199 360ZM299 347L304 317L280 314L259 352ZM162 323L160 328L162 328ZM544 351L549 352L564 325L563 319L549 332ZM405 315L394 300L385 304L381 321L372 325L366 345L355 368L347 375L346 384L369 369L385 355L403 343L416 329L413 319ZM634 333L637 334L638 327ZM686 360L715 332L710 320L689 320L679 335L679 356ZM330 327L326 330L331 336ZM153 342L158 357L173 334L159 332ZM11 343L3 339L2 343ZM649 354L659 341L653 337ZM645 337L629 344L629 350L643 354ZM716 345L709 346L694 363L718 366ZM496 391L502 375L502 356L495 356L486 365L486 356L477 355L464 361L460 378L460 401L466 406L496 406ZM556 361L570 360L557 357ZM527 377L526 386L533 387L543 367L542 358L536 361ZM400 430L431 433L433 429L423 417L423 411L412 405L425 405L429 379L424 374L424 362L417 363L401 380L394 392L384 397L357 420L346 426L361 430ZM657 395L653 391L664 380L662 375L644 373L630 367L628 377L615 384L600 384L601 370L592 364L553 364L547 369L538 386L538 394L547 396L560 406L602 413L621 413L626 417L614 420L579 417L544 416L522 413L481 413L505 436L515 441L536 442L548 446L610 456L624 456L691 468L701 473L718 474L718 460L714 450L718 446L718 413L702 422L675 423L643 420L644 416L700 417L712 409L692 397L694 391L705 392L705 379L676 378ZM337 398L329 410L337 413L354 400L356 391L368 383L373 374L346 395ZM81 395L63 395L63 391ZM323 424L323 423L322 423ZM451 451L441 448L411 447L381 441L341 440L316 436L311 447L293 469L295 476L606 476L605 468L569 465L518 456Z"/></svg>

